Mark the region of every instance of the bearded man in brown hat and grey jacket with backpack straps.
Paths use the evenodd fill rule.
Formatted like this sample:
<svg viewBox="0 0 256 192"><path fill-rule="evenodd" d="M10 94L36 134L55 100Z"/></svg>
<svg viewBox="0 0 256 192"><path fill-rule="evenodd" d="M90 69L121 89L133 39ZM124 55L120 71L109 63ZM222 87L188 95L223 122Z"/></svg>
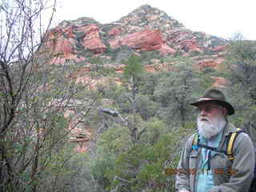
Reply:
<svg viewBox="0 0 256 192"><path fill-rule="evenodd" d="M227 120L234 107L222 91L210 89L198 102L198 131L182 150L176 175L179 192L247 192L254 176L254 146ZM226 153L230 135L237 133L232 157ZM233 137L233 136L232 136Z"/></svg>

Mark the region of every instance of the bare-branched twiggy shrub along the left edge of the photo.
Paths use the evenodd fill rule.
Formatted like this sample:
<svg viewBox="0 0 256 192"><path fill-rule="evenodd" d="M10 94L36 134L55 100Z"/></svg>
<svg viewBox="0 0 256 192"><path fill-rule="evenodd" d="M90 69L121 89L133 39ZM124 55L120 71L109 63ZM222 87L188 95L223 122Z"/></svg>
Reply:
<svg viewBox="0 0 256 192"><path fill-rule="evenodd" d="M45 6L42 1L20 0L4 1L0 8L4 18L0 22L4 29L0 31L1 192L46 191L41 179L45 175L54 178L49 191L58 191L55 184L70 175L64 167L71 155L67 128L74 126L69 124L73 116L64 118L64 112L85 101L72 99L79 89L69 78L70 68L49 64L52 54L42 48L46 33L34 33L47 32L39 25ZM86 98L86 105L80 107L84 115L76 117L77 122L93 106L96 95Z"/></svg>

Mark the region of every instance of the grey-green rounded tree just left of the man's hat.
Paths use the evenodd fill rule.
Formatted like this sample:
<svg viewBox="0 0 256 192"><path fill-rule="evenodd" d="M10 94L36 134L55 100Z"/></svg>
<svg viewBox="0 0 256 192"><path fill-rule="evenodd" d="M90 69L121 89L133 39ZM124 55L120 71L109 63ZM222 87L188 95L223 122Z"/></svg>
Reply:
<svg viewBox="0 0 256 192"><path fill-rule="evenodd" d="M171 71L162 75L154 95L162 105L159 114L169 123L185 126L194 117L189 103L196 98L200 81L190 58L170 58L170 63Z"/></svg>

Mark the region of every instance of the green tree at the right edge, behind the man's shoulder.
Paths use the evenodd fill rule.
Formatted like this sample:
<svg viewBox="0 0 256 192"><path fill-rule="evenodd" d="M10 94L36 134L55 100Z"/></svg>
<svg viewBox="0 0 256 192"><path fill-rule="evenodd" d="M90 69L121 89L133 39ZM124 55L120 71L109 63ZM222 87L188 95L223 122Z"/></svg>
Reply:
<svg viewBox="0 0 256 192"><path fill-rule="evenodd" d="M226 55L228 91L236 110L232 118L256 143L256 42L242 40L241 35L237 37L230 42Z"/></svg>

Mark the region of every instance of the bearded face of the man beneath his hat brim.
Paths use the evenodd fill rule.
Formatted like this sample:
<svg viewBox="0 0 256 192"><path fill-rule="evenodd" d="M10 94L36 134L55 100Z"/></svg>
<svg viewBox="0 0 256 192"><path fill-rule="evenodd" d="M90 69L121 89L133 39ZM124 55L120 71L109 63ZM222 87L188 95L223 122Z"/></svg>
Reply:
<svg viewBox="0 0 256 192"><path fill-rule="evenodd" d="M215 103L198 106L198 132L204 138L217 135L226 125L226 109Z"/></svg>

